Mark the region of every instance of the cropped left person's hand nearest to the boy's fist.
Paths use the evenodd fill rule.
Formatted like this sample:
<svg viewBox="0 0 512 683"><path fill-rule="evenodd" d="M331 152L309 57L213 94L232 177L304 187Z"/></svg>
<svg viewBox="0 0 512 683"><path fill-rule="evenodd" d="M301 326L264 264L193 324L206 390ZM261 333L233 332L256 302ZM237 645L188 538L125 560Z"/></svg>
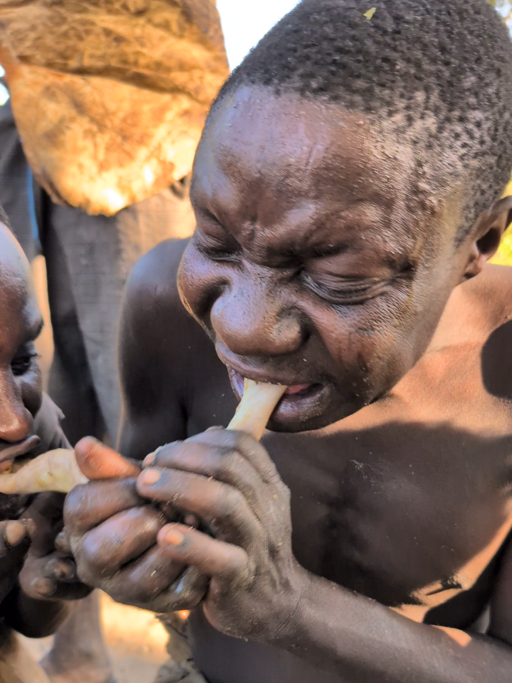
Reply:
<svg viewBox="0 0 512 683"><path fill-rule="evenodd" d="M34 600L79 600L91 592L76 576L71 555L55 546L63 526L63 502L62 494L41 493L25 512L34 529L19 583Z"/></svg>

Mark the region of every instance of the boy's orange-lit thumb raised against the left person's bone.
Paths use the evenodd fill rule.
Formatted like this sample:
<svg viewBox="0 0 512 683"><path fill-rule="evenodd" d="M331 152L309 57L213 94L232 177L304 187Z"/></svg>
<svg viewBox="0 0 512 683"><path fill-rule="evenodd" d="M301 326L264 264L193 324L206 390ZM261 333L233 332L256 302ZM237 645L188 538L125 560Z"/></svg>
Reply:
<svg viewBox="0 0 512 683"><path fill-rule="evenodd" d="M139 464L123 458L92 436L85 436L74 447L79 468L87 479L125 479L137 477Z"/></svg>

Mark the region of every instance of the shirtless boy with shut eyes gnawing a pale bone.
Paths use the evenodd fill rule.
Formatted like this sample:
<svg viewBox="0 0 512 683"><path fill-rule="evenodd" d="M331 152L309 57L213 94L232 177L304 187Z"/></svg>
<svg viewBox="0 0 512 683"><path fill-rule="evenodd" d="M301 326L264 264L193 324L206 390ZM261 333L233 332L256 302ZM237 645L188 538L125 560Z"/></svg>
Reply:
<svg viewBox="0 0 512 683"><path fill-rule="evenodd" d="M66 503L210 683L512 677L512 48L485 0L375 4L304 0L221 91L121 333L121 452L189 438ZM243 376L289 385L261 445L204 432Z"/></svg>

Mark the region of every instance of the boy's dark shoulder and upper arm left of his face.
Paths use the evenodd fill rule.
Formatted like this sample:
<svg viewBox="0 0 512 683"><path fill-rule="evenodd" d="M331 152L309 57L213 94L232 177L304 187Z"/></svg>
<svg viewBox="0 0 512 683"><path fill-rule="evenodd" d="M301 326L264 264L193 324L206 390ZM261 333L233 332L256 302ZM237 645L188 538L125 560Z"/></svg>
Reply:
<svg viewBox="0 0 512 683"><path fill-rule="evenodd" d="M197 323L177 293L188 240L167 240L134 267L122 304L119 363L123 415L119 451L142 459L167 441L186 438L188 344ZM199 333L202 331L199 329Z"/></svg>

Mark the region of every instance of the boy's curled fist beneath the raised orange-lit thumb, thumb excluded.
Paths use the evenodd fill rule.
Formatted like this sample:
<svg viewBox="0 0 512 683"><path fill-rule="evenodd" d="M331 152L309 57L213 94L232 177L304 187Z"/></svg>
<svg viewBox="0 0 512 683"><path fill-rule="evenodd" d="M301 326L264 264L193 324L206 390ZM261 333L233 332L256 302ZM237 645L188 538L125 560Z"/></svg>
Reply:
<svg viewBox="0 0 512 683"><path fill-rule="evenodd" d="M148 504L135 479L76 486L64 520L78 574L117 602L154 612L195 607L207 580L156 544L169 518L165 505Z"/></svg>

